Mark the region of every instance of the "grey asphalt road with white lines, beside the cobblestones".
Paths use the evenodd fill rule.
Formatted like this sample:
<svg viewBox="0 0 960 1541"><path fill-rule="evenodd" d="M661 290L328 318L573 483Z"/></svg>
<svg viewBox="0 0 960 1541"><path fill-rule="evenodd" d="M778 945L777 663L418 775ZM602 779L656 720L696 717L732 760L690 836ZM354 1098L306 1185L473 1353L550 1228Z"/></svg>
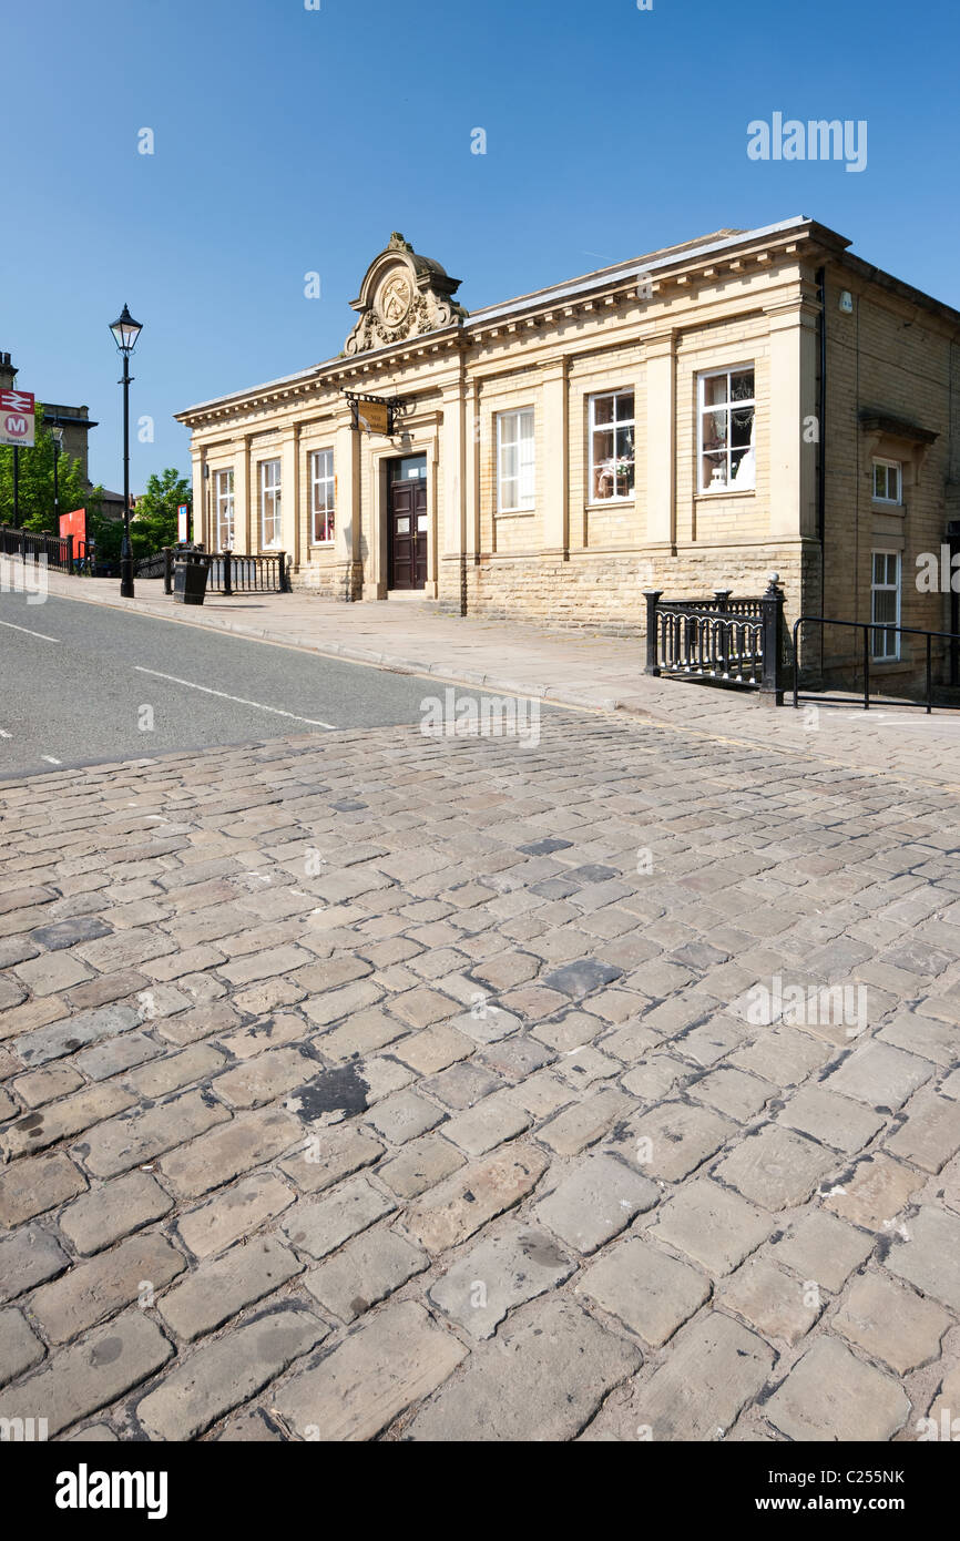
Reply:
<svg viewBox="0 0 960 1541"><path fill-rule="evenodd" d="M436 680L23 593L0 593L0 778L416 723L442 697Z"/></svg>

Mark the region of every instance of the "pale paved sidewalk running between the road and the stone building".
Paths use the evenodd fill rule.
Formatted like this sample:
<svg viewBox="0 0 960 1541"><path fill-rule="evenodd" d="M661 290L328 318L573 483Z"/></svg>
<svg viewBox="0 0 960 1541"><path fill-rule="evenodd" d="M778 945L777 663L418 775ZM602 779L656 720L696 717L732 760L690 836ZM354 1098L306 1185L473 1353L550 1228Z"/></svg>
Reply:
<svg viewBox="0 0 960 1541"><path fill-rule="evenodd" d="M11 562L11 569L18 564ZM587 710L619 710L712 738L777 746L840 766L923 778L960 791L960 710L931 717L880 701L864 712L854 695L804 698L800 710L770 709L740 690L644 675L641 641L550 632L504 621L447 616L433 606L388 599L341 604L314 593L211 596L202 607L176 604L160 582L140 581L120 599L117 579L48 575L51 596L126 609L191 627L279 643L401 673L513 692ZM42 607L35 607L42 615ZM34 623L26 623L34 624ZM43 630L43 627L39 627Z"/></svg>

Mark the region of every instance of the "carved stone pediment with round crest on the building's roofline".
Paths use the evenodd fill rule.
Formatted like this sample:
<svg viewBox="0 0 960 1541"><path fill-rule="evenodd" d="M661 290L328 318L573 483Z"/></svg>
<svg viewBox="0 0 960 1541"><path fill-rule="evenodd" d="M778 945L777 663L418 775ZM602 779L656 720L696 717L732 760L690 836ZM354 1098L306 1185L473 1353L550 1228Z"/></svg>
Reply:
<svg viewBox="0 0 960 1541"><path fill-rule="evenodd" d="M394 231L390 245L367 268L359 299L351 300L361 319L347 337L347 354L353 358L462 321L467 311L453 299L459 287L459 279L451 279L431 257L421 257Z"/></svg>

